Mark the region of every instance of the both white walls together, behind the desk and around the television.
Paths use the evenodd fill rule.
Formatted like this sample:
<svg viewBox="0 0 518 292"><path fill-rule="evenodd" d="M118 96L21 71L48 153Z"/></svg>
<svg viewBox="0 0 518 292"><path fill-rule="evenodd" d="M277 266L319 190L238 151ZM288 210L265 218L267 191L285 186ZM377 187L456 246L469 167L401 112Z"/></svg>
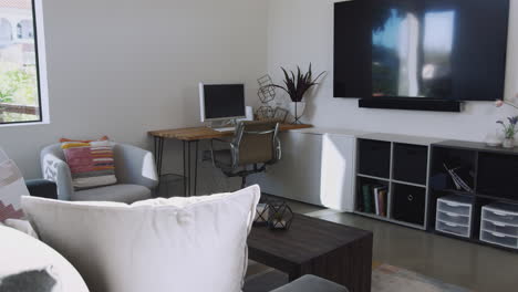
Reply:
<svg viewBox="0 0 518 292"><path fill-rule="evenodd" d="M508 98L518 92L511 2ZM43 8L51 124L0 127L0 146L27 178L40 176L40 149L62 136L108 135L151 148L147 131L198 124L200 80L244 81L253 104L256 79L268 70L280 81L280 65L313 62L329 72L308 106L317 126L481 140L515 113L488 102L444 114L361 109L356 100L333 98L331 0L45 0ZM180 169L179 146L167 145L166 170Z"/></svg>

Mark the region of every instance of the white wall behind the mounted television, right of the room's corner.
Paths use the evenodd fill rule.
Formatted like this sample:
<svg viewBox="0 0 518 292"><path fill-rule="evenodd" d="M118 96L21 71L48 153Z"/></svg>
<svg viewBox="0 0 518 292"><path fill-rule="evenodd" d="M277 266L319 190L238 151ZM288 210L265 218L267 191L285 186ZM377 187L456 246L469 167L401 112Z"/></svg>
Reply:
<svg viewBox="0 0 518 292"><path fill-rule="evenodd" d="M506 88L509 100L518 92L517 2L511 0ZM364 109L358 107L358 100L333 98L333 3L332 0L269 0L268 71L274 81L280 82L282 77L281 65L294 69L297 64L307 66L312 62L315 73L329 72L309 98L305 122L323 127L484 140L488 132L497 128L497 119L518 114L510 108L495 108L489 102L467 103L464 113L455 114Z"/></svg>

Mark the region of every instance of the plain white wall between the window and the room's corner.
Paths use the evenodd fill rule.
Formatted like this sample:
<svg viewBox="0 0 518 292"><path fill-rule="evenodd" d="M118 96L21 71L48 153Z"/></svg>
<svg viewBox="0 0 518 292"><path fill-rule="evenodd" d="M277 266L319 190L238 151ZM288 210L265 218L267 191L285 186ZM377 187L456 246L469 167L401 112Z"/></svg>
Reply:
<svg viewBox="0 0 518 292"><path fill-rule="evenodd" d="M267 70L267 3L257 0L44 0L50 125L0 127L25 178L62 136L108 135L151 149L147 131L199 123L197 83ZM167 166L180 169L179 143ZM175 159L176 158L176 159Z"/></svg>

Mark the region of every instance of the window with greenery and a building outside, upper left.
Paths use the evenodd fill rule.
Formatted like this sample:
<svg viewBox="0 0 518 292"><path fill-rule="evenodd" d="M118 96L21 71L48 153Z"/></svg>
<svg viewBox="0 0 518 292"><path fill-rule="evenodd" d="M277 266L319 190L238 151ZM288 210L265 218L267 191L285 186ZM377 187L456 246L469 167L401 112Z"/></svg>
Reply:
<svg viewBox="0 0 518 292"><path fill-rule="evenodd" d="M41 0L0 1L0 124L42 122ZM38 6L38 7L37 7ZM45 83L46 84L46 83ZM46 88L45 88L46 90ZM46 94L44 94L46 97Z"/></svg>

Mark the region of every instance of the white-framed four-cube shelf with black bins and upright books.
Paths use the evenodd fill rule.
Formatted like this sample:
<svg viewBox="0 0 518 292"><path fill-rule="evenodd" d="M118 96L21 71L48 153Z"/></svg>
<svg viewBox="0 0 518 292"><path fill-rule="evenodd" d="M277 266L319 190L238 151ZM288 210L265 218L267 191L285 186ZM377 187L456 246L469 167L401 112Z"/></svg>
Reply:
<svg viewBox="0 0 518 292"><path fill-rule="evenodd" d="M442 139L392 134L358 137L355 213L427 229L431 145ZM387 216L365 212L364 185L386 186Z"/></svg>

